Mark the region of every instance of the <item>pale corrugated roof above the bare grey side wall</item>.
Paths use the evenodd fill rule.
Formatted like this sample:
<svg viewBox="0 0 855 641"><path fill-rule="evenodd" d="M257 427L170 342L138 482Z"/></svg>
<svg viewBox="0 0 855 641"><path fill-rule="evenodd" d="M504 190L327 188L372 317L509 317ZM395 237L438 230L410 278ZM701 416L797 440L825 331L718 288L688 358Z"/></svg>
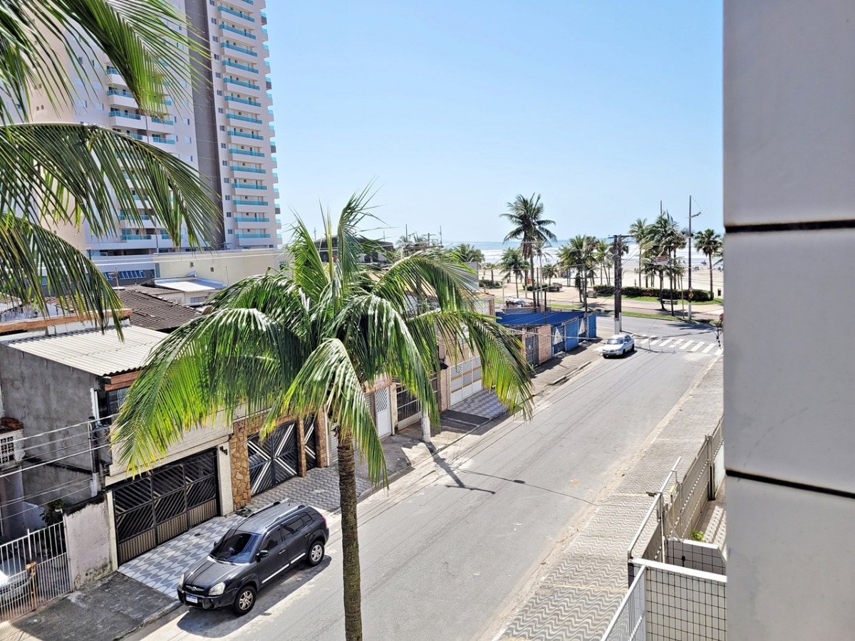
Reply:
<svg viewBox="0 0 855 641"><path fill-rule="evenodd" d="M115 329L92 329L7 343L14 350L40 356L97 376L133 372L143 366L150 350L164 338L145 327L123 327L124 341Z"/></svg>

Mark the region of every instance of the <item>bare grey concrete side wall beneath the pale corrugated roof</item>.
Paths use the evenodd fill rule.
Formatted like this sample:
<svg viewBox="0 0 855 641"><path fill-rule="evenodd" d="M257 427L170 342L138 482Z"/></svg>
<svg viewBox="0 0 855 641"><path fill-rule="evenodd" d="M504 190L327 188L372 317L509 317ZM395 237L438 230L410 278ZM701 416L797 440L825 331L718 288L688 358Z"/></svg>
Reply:
<svg viewBox="0 0 855 641"><path fill-rule="evenodd" d="M62 458L23 473L24 497L31 503L77 503L92 496L86 421L93 415L96 386L90 373L0 344L3 409L24 425L26 465Z"/></svg>

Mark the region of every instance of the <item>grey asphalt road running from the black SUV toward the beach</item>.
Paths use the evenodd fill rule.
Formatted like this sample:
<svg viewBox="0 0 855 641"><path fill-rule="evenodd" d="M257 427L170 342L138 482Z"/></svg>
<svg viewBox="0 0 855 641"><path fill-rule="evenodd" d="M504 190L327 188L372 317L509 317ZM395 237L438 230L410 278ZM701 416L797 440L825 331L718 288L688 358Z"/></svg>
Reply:
<svg viewBox="0 0 855 641"><path fill-rule="evenodd" d="M363 502L365 638L469 640L497 631L535 569L710 358L639 350L593 362L542 398L533 420L504 420ZM327 554L320 567L268 587L243 619L179 609L134 638L342 639L337 526Z"/></svg>

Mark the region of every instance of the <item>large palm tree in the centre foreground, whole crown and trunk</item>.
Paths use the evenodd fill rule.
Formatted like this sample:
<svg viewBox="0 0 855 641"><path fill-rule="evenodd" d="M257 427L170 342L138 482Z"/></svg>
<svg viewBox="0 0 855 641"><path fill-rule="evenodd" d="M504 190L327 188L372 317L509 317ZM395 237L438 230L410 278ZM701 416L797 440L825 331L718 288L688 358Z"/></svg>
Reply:
<svg viewBox="0 0 855 641"><path fill-rule="evenodd" d="M327 215L335 262L322 262L297 219L288 269L244 279L210 299L210 312L180 327L152 351L116 419L121 461L138 471L214 413L227 423L239 409L259 412L262 437L285 416L323 415L335 426L343 547L345 637L363 638L357 538L355 454L375 485L387 484L386 459L365 392L397 377L439 419L430 377L439 346L468 345L483 377L510 411L529 413L532 385L519 339L475 311L477 282L441 249L395 259L387 268L359 262L382 251L360 240L368 190L354 194L337 226Z"/></svg>

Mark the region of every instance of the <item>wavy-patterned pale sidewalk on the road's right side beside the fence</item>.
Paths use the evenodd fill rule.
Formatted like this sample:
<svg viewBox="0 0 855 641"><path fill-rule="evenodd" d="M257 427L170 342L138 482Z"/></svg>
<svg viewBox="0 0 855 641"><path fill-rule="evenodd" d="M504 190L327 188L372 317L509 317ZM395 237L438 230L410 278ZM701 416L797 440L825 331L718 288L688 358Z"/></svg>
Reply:
<svg viewBox="0 0 855 641"><path fill-rule="evenodd" d="M682 456L682 478L723 413L722 360L699 384L616 489L562 551L534 594L500 632L503 641L592 641L605 632L627 590L627 548L650 507L647 491L662 485Z"/></svg>

